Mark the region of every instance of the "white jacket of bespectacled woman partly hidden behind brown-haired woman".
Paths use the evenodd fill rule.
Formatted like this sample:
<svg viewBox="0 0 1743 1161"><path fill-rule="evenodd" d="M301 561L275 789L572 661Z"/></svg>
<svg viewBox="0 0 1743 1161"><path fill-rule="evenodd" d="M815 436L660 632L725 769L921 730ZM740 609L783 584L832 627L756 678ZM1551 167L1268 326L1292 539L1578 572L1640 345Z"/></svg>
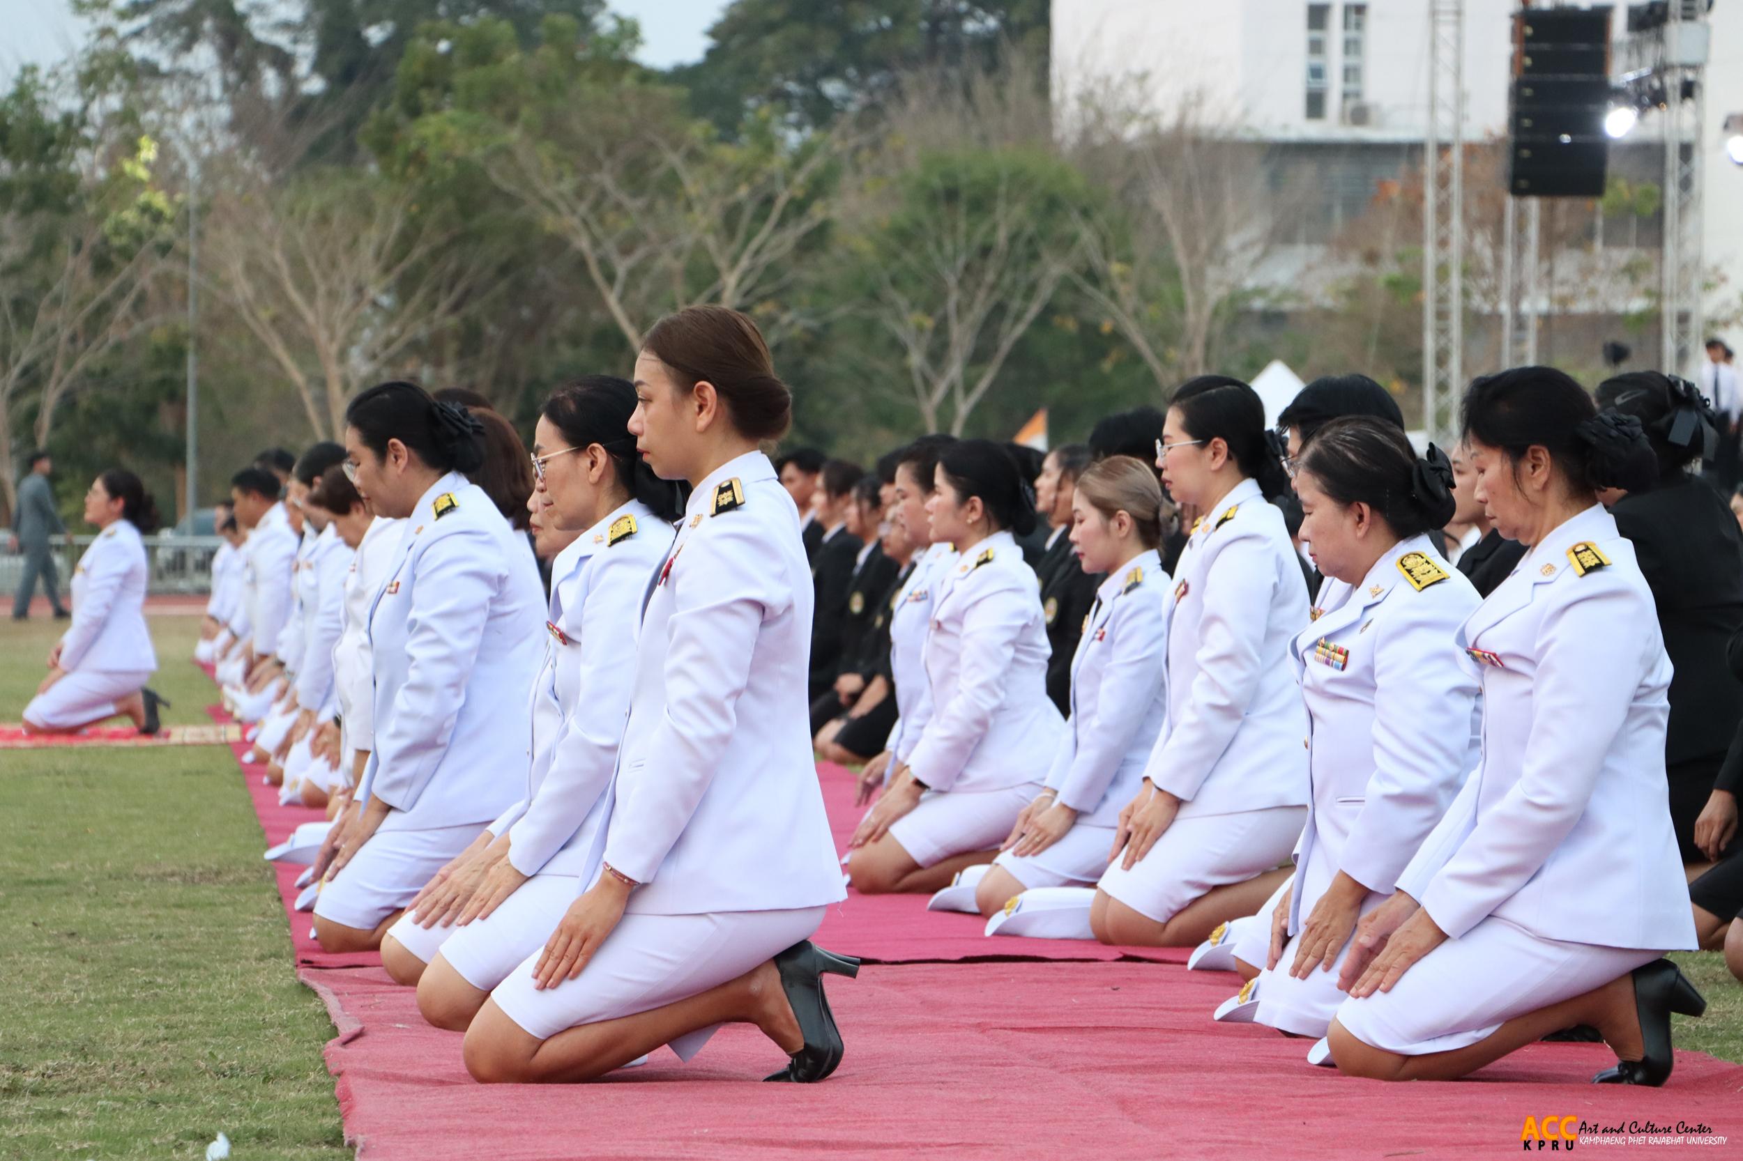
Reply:
<svg viewBox="0 0 1743 1161"><path fill-rule="evenodd" d="M580 554L572 580L551 587L551 622L563 635L551 636L561 713L549 748L533 753L528 797L509 830L509 863L523 875L586 870L587 852L568 840L617 767L629 722L631 683L624 669L636 657L641 598L671 544L673 526L631 500L575 540L572 547ZM539 725L533 729L542 732Z"/></svg>

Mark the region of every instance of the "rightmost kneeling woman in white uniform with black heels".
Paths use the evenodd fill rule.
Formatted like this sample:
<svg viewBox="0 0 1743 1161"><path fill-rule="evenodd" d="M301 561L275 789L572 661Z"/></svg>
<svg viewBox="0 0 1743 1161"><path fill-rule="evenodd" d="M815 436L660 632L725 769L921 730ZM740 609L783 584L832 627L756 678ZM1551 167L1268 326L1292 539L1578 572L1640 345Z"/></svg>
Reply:
<svg viewBox="0 0 1743 1161"><path fill-rule="evenodd" d="M1597 497L1649 485L1652 448L1551 368L1471 384L1464 436L1476 499L1530 549L1457 636L1483 666L1482 764L1358 924L1332 1060L1447 1081L1586 1023L1621 1060L1595 1081L1663 1084L1670 1013L1705 1008L1659 959L1696 945L1665 790L1670 661Z"/></svg>

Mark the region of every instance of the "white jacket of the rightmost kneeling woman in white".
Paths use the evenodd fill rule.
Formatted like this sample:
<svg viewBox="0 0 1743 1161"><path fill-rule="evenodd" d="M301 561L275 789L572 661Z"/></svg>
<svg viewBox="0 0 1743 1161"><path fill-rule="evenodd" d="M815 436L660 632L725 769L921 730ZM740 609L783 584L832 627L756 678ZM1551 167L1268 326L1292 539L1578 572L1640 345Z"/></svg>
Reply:
<svg viewBox="0 0 1743 1161"><path fill-rule="evenodd" d="M1694 947L1665 781L1670 659L1633 544L1593 504L1464 622L1483 758L1400 875L1452 938L1485 917L1598 947Z"/></svg>

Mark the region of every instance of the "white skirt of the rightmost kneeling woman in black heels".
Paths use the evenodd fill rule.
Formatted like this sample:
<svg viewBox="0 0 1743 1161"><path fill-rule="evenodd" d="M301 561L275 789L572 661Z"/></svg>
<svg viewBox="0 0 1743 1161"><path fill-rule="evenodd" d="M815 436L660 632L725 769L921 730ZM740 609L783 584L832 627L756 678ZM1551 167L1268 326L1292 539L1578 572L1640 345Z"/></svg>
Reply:
<svg viewBox="0 0 1743 1161"><path fill-rule="evenodd" d="M1455 1051L1515 1016L1584 995L1659 955L1546 940L1490 915L1412 964L1391 992L1344 999L1337 1022L1363 1044L1389 1053Z"/></svg>

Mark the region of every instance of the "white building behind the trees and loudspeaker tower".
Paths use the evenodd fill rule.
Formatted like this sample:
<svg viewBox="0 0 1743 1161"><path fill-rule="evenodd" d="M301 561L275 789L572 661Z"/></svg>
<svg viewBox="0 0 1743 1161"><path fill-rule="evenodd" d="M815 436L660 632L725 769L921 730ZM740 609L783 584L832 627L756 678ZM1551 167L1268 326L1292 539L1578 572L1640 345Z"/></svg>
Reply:
<svg viewBox="0 0 1743 1161"><path fill-rule="evenodd" d="M1326 242L1377 183L1421 164L1428 129L1431 0L1055 0L1053 89L1068 117L1088 87L1121 84L1159 115L1196 101L1222 127L1316 159L1314 213L1297 241ZM1511 16L1518 0L1464 0L1464 138L1504 138ZM1614 26L1624 24L1618 3ZM1705 261L1726 277L1713 319L1743 305L1743 167L1724 150L1726 113L1743 112L1743 0L1717 0L1706 70ZM1612 150L1612 173L1661 181L1654 122ZM1612 230L1609 246L1618 244ZM1658 246L1656 225L1621 244ZM1300 267L1297 255L1292 267ZM1285 272L1288 277L1288 272ZM1743 328L1731 340L1743 345ZM1687 368L1685 368L1687 370Z"/></svg>

